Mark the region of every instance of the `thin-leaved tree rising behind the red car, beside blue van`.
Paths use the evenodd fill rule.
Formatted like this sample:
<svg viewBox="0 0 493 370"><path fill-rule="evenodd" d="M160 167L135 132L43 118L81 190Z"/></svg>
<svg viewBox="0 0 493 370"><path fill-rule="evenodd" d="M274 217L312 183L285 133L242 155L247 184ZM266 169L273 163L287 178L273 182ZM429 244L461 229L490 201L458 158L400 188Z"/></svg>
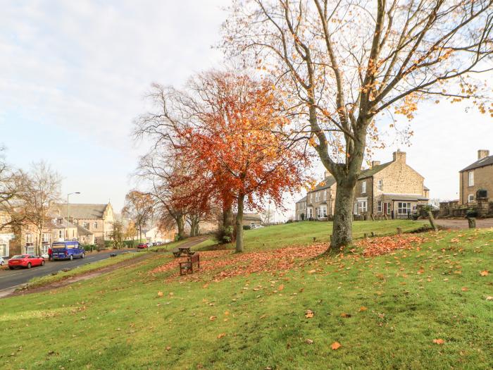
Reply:
<svg viewBox="0 0 493 370"><path fill-rule="evenodd" d="M61 176L44 161L31 165L27 181L20 194L25 221L37 229L36 254L40 254L42 231L49 222L51 205L60 200Z"/></svg>

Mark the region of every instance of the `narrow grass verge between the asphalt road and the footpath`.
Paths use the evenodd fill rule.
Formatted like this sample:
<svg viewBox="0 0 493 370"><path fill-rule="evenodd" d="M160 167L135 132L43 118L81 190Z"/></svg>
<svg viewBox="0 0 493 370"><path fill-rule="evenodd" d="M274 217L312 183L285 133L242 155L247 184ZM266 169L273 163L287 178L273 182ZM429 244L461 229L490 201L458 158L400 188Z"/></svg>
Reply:
<svg viewBox="0 0 493 370"><path fill-rule="evenodd" d="M82 266L77 266L74 269L70 269L69 271L60 271L56 275L46 275L46 276L41 276L39 278L32 278L27 282L26 288L28 289L38 288L40 286L49 285L51 283L56 283L61 280L73 278L75 276L79 276L84 273L104 269L104 267L112 266L114 264L119 264L120 262L126 261L127 259L132 259L140 256L142 256L142 254L139 253L120 254L113 258L102 259L101 261L96 261Z"/></svg>

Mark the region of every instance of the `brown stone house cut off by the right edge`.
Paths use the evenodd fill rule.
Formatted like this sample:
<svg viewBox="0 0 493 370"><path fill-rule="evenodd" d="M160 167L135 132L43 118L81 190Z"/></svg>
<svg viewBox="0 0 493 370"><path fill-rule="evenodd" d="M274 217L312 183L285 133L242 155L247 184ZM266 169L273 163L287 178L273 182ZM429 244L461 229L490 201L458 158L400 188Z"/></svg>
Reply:
<svg viewBox="0 0 493 370"><path fill-rule="evenodd" d="M478 161L459 171L459 204L477 204L493 195L493 156L478 150Z"/></svg>

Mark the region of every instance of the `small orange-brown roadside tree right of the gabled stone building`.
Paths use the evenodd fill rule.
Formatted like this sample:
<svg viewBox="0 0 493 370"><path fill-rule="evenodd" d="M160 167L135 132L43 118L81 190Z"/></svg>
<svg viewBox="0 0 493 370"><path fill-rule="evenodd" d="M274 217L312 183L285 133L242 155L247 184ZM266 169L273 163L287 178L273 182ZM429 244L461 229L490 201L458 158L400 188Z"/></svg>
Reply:
<svg viewBox="0 0 493 370"><path fill-rule="evenodd" d="M147 226L154 213L154 200L151 195L139 190L130 190L125 196L122 215L130 218L139 230L139 242L142 241L142 230Z"/></svg>

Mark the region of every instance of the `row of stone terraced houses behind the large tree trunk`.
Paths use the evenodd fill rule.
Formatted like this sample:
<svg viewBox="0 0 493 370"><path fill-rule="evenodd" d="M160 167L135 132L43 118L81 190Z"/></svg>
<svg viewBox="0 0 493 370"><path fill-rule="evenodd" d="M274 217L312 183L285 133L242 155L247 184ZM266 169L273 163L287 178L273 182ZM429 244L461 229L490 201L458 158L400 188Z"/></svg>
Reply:
<svg viewBox="0 0 493 370"><path fill-rule="evenodd" d="M334 215L337 184L335 178L325 173L325 179L306 195L306 211L299 212L297 220L327 220ZM407 218L418 204L427 204L430 190L424 178L406 164L406 153L393 153L392 161L380 164L372 161L371 167L362 171L356 184L353 214L361 218L370 215L389 218Z"/></svg>

